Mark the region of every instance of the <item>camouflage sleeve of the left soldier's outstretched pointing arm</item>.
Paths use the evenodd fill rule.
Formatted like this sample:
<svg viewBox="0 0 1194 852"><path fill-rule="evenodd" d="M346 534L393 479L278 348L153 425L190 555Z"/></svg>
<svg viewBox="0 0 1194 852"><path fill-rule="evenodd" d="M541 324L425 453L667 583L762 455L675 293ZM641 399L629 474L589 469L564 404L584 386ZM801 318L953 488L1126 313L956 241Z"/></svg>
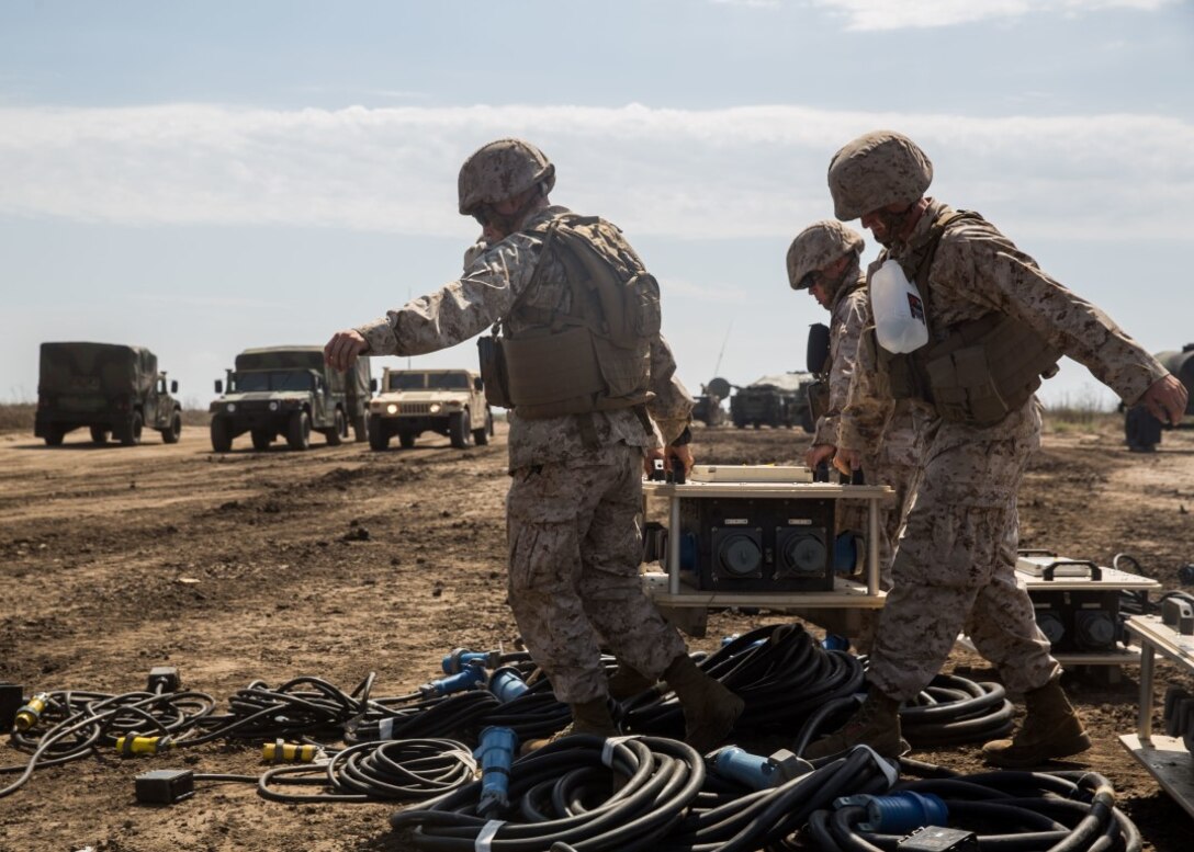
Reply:
<svg viewBox="0 0 1194 852"><path fill-rule="evenodd" d="M426 354L485 331L530 282L540 246L515 234L476 257L460 280L359 326L369 354Z"/></svg>

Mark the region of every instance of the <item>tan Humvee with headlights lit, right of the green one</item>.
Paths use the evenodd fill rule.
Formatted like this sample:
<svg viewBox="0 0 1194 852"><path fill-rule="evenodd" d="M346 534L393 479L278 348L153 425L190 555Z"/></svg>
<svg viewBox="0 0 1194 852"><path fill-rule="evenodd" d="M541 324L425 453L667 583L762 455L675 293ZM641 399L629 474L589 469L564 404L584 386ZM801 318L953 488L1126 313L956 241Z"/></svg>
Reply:
<svg viewBox="0 0 1194 852"><path fill-rule="evenodd" d="M472 370L386 370L369 403L369 446L384 450L395 434L404 450L424 432L448 436L457 449L488 444L493 414L485 383Z"/></svg>

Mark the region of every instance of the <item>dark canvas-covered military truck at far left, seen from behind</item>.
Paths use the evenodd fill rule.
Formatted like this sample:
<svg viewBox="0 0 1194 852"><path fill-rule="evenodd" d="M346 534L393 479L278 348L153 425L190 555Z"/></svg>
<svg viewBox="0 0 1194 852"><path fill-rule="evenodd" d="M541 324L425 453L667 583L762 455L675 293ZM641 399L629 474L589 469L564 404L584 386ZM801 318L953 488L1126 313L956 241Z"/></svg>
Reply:
<svg viewBox="0 0 1194 852"><path fill-rule="evenodd" d="M158 356L142 346L42 344L33 434L59 446L67 432L87 427L96 444L111 436L134 446L148 426L174 444L183 433L177 393L178 382L167 391Z"/></svg>

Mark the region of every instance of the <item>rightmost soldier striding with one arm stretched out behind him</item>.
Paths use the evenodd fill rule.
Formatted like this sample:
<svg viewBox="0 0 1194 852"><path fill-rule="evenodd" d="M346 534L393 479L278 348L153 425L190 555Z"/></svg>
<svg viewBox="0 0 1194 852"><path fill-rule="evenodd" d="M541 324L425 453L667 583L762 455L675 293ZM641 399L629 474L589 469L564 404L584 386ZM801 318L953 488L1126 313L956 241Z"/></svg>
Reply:
<svg viewBox="0 0 1194 852"><path fill-rule="evenodd" d="M1143 401L1169 420L1184 410L1184 389L1106 314L1045 274L993 226L975 215L954 217L944 204L925 198L931 177L924 153L891 131L850 142L830 165L838 218L861 216L887 248L881 260L897 260L921 285L931 342L918 381L936 419L924 449L922 481L897 545L894 588L870 654L867 702L838 734L813 743L806 757L857 743L898 753L904 746L899 703L928 685L959 632L966 631L979 653L998 666L1009 690L1024 693L1028 705L1016 736L987 743L984 754L999 766L1033 766L1090 747L1060 689L1060 667L1036 628L1028 593L1015 575L1016 493L1040 444L1040 406L1032 395L1039 377L1030 375L1016 385L1023 391L1018 402L998 410L992 406L1001 397L983 396L979 387L998 383L998 359L987 363L985 376L975 375L966 360L973 347L936 358L938 345L955 341L964 329L985 329L992 351L1001 340L1016 339L1008 358L1016 350L1035 347L1042 365L1064 353L1125 401ZM983 322L975 322L980 317ZM866 400L876 393L909 387L898 378L894 362L884 366L885 357L875 350L882 369L869 377L860 370L851 385L839 431L843 464L855 464L866 446L851 422L855 412L864 410Z"/></svg>

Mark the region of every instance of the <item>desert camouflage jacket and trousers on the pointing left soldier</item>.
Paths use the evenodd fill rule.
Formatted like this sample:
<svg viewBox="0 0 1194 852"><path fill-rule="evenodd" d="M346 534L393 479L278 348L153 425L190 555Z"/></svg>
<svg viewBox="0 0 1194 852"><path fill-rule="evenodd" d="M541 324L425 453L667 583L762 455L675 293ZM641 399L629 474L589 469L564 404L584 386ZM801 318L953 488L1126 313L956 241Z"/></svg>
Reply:
<svg viewBox="0 0 1194 852"><path fill-rule="evenodd" d="M540 285L507 316L530 283L543 245L540 234L525 231L566 212L554 205L535 214L523 231L473 258L460 280L361 327L369 351L424 354L498 320L511 333L523 332L524 309L566 311L571 290L560 266L544 270ZM607 694L601 644L652 679L685 653L639 579L642 457L648 447L679 437L693 407L663 338L651 354L654 399L647 409L658 434L648 433L628 408L535 420L517 410L509 414L510 606L528 650L568 704ZM592 419L596 447L585 443L581 416Z"/></svg>

